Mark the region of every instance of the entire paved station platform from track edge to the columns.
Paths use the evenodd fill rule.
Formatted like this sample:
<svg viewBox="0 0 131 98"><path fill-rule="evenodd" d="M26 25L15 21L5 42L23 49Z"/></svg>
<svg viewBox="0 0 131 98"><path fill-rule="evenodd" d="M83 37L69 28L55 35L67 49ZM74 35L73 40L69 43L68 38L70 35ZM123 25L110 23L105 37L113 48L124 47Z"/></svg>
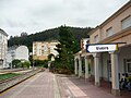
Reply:
<svg viewBox="0 0 131 98"><path fill-rule="evenodd" d="M45 71L0 94L0 98L131 98L131 93L115 97L83 78Z"/></svg>

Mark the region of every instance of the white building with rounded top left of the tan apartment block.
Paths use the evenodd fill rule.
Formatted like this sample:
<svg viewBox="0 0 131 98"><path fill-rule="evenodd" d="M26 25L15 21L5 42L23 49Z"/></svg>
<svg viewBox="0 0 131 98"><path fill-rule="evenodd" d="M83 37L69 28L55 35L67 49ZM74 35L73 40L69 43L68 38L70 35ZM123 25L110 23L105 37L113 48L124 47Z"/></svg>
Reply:
<svg viewBox="0 0 131 98"><path fill-rule="evenodd" d="M11 62L14 59L28 61L28 57L29 57L29 52L26 46L10 47L8 48L8 53L7 53L7 66L11 68L12 66Z"/></svg>

